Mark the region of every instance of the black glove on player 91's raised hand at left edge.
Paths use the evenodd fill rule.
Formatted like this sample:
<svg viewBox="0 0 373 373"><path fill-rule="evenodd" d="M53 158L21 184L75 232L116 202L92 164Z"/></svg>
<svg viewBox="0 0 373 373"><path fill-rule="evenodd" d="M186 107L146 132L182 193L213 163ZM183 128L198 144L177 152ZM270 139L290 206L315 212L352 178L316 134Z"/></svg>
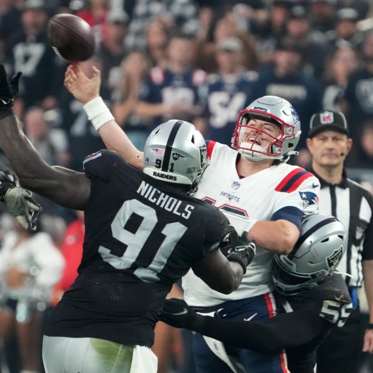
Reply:
<svg viewBox="0 0 373 373"><path fill-rule="evenodd" d="M0 64L0 119L13 115L13 101L15 95L18 93L18 84L21 75L22 73L19 71L9 82L4 65Z"/></svg>

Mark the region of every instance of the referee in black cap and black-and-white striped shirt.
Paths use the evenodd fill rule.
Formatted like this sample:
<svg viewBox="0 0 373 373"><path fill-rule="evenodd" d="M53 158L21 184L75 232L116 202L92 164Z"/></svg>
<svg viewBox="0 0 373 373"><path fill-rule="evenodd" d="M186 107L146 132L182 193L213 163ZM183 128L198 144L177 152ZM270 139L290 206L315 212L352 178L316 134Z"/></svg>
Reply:
<svg viewBox="0 0 373 373"><path fill-rule="evenodd" d="M319 179L320 212L332 214L348 231L347 251L338 270L346 282L354 309L344 327L333 328L317 351L317 373L357 373L362 351L373 353L373 197L346 176L344 160L351 149L349 128L340 112L311 117L307 147L312 172ZM370 324L361 324L357 288L364 288Z"/></svg>

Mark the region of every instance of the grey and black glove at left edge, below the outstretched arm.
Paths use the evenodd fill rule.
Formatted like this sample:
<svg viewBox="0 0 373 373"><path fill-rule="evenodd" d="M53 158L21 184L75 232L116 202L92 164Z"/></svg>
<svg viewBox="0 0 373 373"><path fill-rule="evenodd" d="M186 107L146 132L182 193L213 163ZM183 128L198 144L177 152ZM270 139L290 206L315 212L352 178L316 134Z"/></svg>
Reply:
<svg viewBox="0 0 373 373"><path fill-rule="evenodd" d="M19 185L18 177L8 170L0 170L0 201L5 202L9 213L22 228L35 231L41 206L29 190Z"/></svg>

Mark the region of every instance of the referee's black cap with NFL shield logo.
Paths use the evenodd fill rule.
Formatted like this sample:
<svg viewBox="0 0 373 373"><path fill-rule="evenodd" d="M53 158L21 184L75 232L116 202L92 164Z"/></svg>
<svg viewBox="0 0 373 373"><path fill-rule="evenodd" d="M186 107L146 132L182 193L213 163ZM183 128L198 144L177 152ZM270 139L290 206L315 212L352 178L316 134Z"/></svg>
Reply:
<svg viewBox="0 0 373 373"><path fill-rule="evenodd" d="M337 131L350 136L347 120L341 112L326 110L314 114L310 120L308 137L312 138L322 131Z"/></svg>

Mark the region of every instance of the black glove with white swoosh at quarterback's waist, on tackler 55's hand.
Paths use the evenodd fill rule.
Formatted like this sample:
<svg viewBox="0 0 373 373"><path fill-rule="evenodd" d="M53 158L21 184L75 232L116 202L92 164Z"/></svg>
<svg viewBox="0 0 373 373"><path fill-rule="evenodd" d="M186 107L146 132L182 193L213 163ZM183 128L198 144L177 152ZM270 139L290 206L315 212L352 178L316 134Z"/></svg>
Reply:
<svg viewBox="0 0 373 373"><path fill-rule="evenodd" d="M159 320L173 327L193 330L199 322L199 317L193 308L182 299L167 298L164 300L162 311L158 314Z"/></svg>

